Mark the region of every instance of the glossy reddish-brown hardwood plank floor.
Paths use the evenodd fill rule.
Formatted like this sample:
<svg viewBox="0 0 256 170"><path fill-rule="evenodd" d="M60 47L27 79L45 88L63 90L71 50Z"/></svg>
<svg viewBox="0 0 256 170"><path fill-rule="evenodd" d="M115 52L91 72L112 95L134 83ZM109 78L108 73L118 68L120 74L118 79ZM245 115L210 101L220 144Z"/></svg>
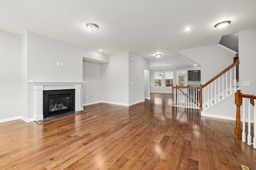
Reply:
<svg viewBox="0 0 256 170"><path fill-rule="evenodd" d="M88 113L39 125L0 123L0 169L241 169L256 149L234 139L235 121L172 107L151 93L136 105L104 103Z"/></svg>

